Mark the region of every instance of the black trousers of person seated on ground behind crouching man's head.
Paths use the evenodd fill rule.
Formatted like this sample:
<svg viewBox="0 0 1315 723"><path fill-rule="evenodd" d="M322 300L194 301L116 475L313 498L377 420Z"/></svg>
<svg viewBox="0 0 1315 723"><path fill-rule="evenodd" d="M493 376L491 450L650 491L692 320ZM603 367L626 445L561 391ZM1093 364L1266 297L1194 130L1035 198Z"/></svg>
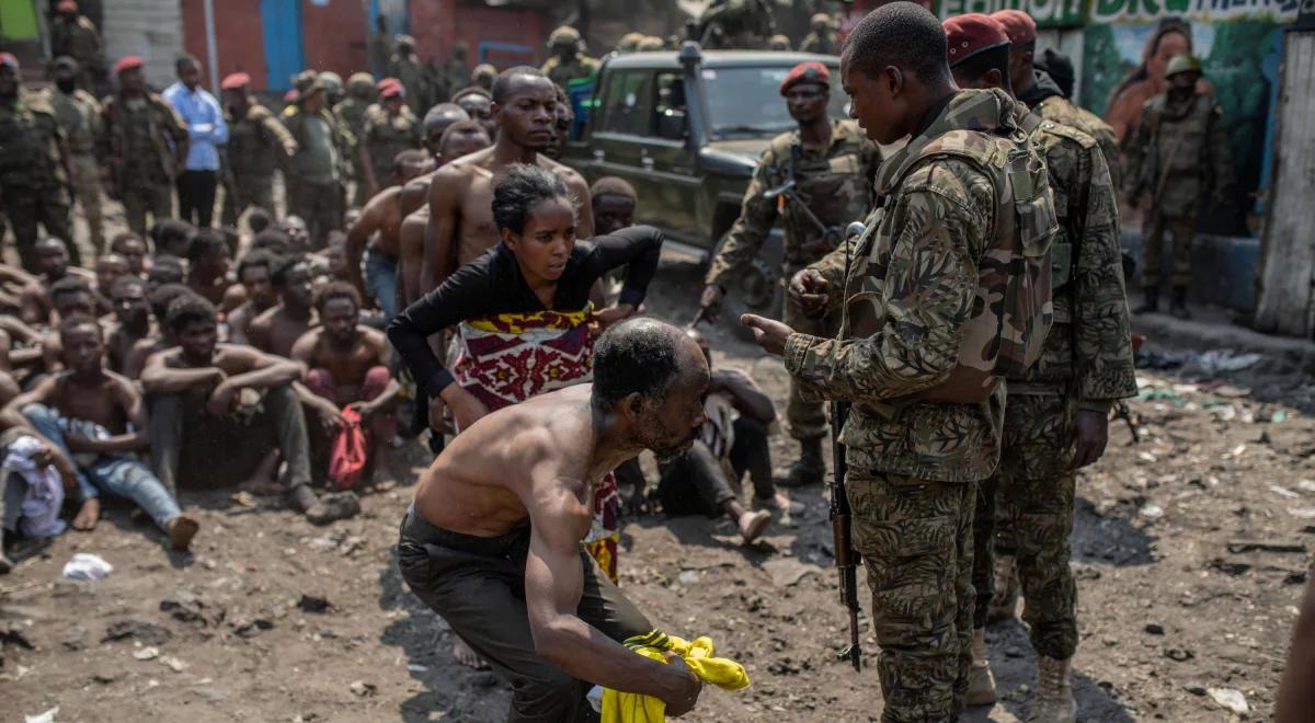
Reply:
<svg viewBox="0 0 1315 723"><path fill-rule="evenodd" d="M735 444L730 452L734 480L727 478L726 468L701 439L676 460L660 465L658 500L667 514L721 517L722 503L736 497L735 486L744 472L753 482L753 497L769 500L776 494L767 425L742 415L735 419L734 429Z"/></svg>

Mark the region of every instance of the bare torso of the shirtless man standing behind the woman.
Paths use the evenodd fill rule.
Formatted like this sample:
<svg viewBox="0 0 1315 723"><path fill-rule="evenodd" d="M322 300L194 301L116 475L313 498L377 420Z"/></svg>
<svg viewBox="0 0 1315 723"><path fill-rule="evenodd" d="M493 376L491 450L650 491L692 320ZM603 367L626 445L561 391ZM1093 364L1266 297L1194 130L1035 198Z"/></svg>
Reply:
<svg viewBox="0 0 1315 723"><path fill-rule="evenodd" d="M429 188L429 227L421 267L421 293L443 281L444 268L455 271L492 248L501 239L493 222L493 189L502 183L515 162L500 160L500 146L462 156L443 166ZM504 151L505 152L505 151ZM593 235L589 185L580 174L535 154L534 162L565 181L580 202L577 238ZM448 260L451 259L451 262Z"/></svg>

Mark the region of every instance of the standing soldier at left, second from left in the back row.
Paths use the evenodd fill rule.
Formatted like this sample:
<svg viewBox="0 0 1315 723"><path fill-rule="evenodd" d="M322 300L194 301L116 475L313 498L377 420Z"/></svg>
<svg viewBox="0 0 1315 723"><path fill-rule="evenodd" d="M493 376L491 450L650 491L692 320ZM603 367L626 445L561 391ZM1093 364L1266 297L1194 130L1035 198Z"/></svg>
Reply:
<svg viewBox="0 0 1315 723"><path fill-rule="evenodd" d="M78 87L78 60L67 55L55 58L50 66L54 88L46 100L55 110L59 128L68 138L68 170L72 176L74 196L82 204L91 233L91 246L96 255L105 251L105 220L101 213L100 163L96 159L96 139L100 138L100 101ZM71 239L66 239L71 241ZM76 248L70 243L70 247Z"/></svg>

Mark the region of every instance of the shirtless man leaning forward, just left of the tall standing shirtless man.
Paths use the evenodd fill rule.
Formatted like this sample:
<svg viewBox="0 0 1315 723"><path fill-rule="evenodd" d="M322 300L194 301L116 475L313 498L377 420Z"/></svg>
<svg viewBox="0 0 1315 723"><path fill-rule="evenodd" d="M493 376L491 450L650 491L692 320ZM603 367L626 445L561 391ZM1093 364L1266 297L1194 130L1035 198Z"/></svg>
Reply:
<svg viewBox="0 0 1315 723"><path fill-rule="evenodd" d="M393 174L398 184L376 193L362 209L360 217L347 231L347 279L362 298L375 298L385 319L397 315L397 234L406 212L402 209L402 189L406 183L429 171L433 160L419 149L397 154ZM366 273L360 272L360 258L366 255ZM368 284L367 284L368 277ZM368 287L368 288L367 288Z"/></svg>

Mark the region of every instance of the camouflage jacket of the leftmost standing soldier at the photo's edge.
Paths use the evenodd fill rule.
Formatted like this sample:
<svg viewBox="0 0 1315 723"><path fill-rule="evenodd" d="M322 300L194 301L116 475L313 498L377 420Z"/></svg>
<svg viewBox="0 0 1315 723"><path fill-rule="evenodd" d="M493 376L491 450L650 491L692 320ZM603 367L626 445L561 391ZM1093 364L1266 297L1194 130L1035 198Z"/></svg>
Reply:
<svg viewBox="0 0 1315 723"><path fill-rule="evenodd" d="M0 185L33 191L63 185L63 138L45 95L20 87L13 101L0 100Z"/></svg>

